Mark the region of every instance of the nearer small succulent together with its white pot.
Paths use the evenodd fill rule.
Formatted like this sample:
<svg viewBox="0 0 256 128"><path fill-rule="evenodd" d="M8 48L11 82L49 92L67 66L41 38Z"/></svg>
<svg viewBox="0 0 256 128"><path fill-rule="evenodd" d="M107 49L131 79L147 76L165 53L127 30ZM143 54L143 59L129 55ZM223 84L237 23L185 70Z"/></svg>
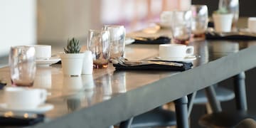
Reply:
<svg viewBox="0 0 256 128"><path fill-rule="evenodd" d="M80 53L80 48L81 46L78 39L68 39L68 44L66 48L64 48L65 53L60 55L63 75L81 75L84 53Z"/></svg>

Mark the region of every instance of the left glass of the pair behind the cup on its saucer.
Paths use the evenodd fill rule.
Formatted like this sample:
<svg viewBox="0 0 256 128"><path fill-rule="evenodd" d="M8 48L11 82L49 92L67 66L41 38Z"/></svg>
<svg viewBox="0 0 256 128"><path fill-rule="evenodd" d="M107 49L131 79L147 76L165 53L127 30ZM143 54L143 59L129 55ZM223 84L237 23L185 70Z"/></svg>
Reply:
<svg viewBox="0 0 256 128"><path fill-rule="evenodd" d="M192 13L189 11L170 11L172 43L188 45L191 38Z"/></svg>

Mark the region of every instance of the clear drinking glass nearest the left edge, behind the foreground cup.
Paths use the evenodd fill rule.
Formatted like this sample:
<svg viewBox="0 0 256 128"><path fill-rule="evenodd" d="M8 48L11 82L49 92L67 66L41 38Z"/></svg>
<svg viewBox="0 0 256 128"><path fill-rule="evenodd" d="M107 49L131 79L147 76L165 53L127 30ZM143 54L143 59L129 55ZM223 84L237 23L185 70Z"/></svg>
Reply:
<svg viewBox="0 0 256 128"><path fill-rule="evenodd" d="M11 85L31 87L36 75L35 48L31 46L11 47L9 66Z"/></svg>

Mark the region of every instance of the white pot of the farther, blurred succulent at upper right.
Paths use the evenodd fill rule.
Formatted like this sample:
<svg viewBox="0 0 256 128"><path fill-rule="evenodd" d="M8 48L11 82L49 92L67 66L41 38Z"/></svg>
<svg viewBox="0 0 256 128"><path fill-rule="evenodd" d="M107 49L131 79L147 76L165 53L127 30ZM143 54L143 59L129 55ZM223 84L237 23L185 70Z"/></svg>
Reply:
<svg viewBox="0 0 256 128"><path fill-rule="evenodd" d="M213 14L214 29L217 32L230 32L233 14Z"/></svg>

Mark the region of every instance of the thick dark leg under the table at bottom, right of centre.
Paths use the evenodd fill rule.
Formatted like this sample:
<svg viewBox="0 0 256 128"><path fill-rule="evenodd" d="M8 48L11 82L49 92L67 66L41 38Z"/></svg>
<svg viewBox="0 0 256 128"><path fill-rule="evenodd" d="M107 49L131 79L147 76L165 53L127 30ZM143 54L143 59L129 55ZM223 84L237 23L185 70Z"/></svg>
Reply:
<svg viewBox="0 0 256 128"><path fill-rule="evenodd" d="M188 97L181 97L174 101L178 128L188 128Z"/></svg>

